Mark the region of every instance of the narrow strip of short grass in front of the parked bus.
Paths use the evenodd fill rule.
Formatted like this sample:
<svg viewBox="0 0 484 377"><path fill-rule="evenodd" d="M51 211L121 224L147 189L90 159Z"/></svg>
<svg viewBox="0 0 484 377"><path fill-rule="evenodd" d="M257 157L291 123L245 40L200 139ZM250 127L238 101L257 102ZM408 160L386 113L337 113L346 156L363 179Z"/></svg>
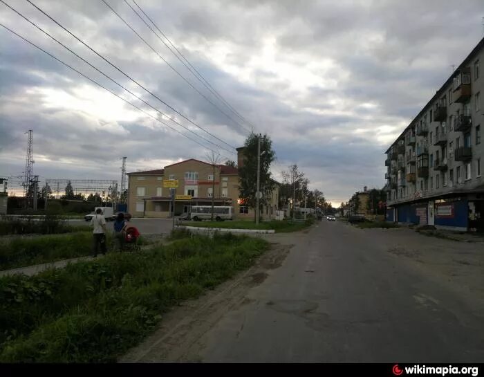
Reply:
<svg viewBox="0 0 484 377"><path fill-rule="evenodd" d="M276 233L283 232L297 232L308 228L314 223L314 219L307 219L306 221L292 223L290 220L283 221L263 221L256 225L254 221L238 220L238 221L184 221L183 226L196 226L201 228L221 228L221 229L263 229L275 230Z"/></svg>

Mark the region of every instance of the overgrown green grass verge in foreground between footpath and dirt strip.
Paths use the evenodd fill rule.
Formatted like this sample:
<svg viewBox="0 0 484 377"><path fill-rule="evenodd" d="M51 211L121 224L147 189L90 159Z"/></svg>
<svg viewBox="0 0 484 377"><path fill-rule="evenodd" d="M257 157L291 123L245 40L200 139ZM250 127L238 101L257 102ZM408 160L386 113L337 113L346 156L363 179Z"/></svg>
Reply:
<svg viewBox="0 0 484 377"><path fill-rule="evenodd" d="M251 266L268 242L193 235L33 277L0 278L0 362L114 362L161 314Z"/></svg>

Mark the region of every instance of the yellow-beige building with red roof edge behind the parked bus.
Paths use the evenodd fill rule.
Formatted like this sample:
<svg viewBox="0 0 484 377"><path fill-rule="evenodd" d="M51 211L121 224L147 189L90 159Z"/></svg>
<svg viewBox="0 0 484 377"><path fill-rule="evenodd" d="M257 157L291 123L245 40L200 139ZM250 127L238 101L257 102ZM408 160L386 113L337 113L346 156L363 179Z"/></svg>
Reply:
<svg viewBox="0 0 484 377"><path fill-rule="evenodd" d="M242 150L239 151L239 156ZM241 158L239 158L241 163ZM177 180L176 195L192 199L177 200L175 214L190 212L193 205L231 205L236 218L253 218L252 208L239 199L239 172L236 167L216 165L190 158L164 169L128 173L128 212L133 217L168 218L171 212L170 189L165 180ZM263 208L262 218L274 218L279 201L279 187L272 192L270 205Z"/></svg>

